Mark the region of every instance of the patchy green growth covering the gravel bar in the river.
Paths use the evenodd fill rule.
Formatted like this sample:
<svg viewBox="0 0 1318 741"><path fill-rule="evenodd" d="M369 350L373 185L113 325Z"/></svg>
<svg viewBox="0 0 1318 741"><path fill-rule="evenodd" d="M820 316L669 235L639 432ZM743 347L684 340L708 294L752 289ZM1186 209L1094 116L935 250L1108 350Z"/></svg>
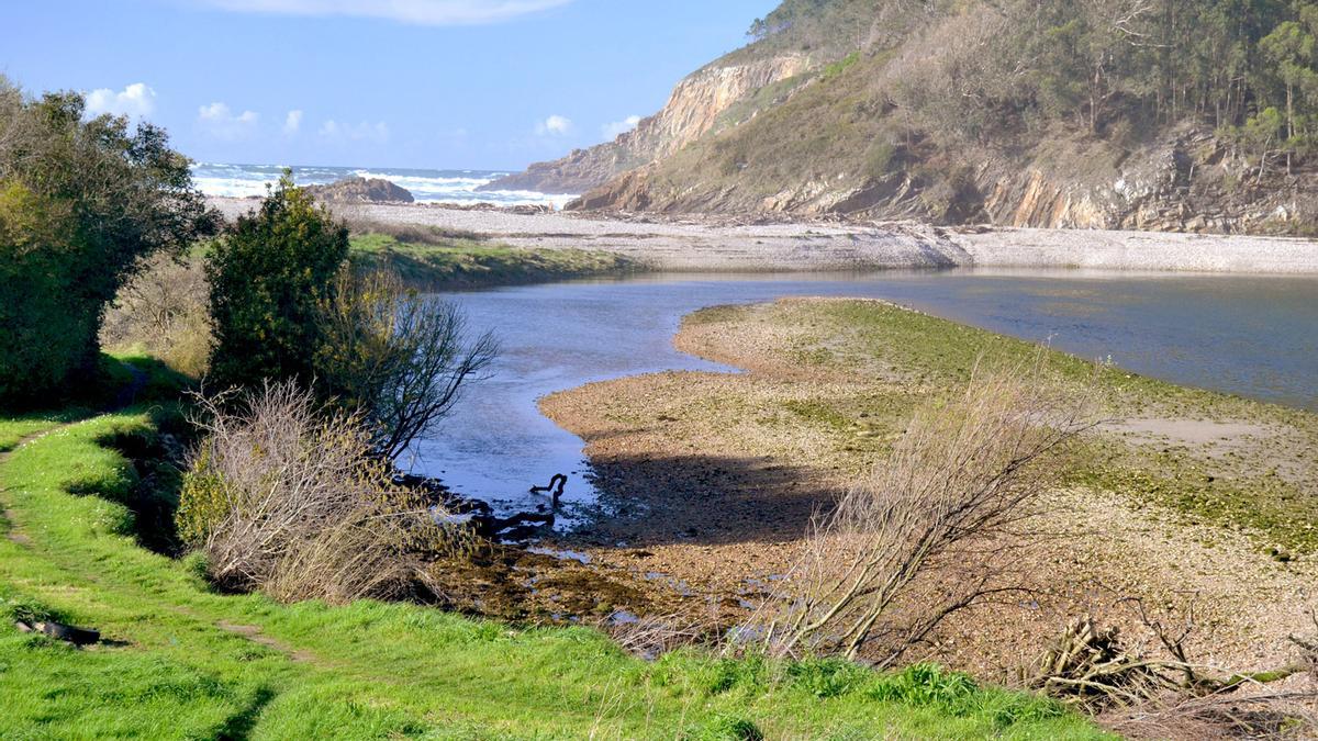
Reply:
<svg viewBox="0 0 1318 741"><path fill-rule="evenodd" d="M899 393L883 394L876 405L851 397L817 398L788 410L828 430L880 423L879 436L900 431L903 413L917 400L966 382L981 359L1019 364L1039 352L1033 343L873 301L721 306L697 311L687 322L789 327L803 332L782 351L795 365L844 369L862 377L880 370L895 374ZM1048 352L1058 378L1097 385L1104 415L1248 421L1289 431L1302 440L1296 446L1300 451L1318 450L1318 417L1311 413ZM1066 476L1072 484L1118 492L1191 521L1243 529L1261 548L1280 551L1282 560L1292 551L1318 552L1318 496L1311 490L1318 485L1313 480L1318 472L1313 460L1318 459L1292 461L1310 471L1310 480L1301 485L1277 472L1276 456L1288 452L1294 451L1259 446L1205 455L1176 442L1131 446L1112 435L1098 435L1075 451Z"/></svg>

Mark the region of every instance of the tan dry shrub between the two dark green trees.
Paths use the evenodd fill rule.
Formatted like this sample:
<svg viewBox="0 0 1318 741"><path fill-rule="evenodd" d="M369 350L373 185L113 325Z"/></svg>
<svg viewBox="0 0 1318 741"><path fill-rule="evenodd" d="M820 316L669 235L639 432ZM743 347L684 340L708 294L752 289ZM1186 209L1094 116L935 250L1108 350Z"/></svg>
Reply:
<svg viewBox="0 0 1318 741"><path fill-rule="evenodd" d="M158 254L120 289L105 312L100 341L111 348L138 347L199 378L211 353L208 301L200 261Z"/></svg>

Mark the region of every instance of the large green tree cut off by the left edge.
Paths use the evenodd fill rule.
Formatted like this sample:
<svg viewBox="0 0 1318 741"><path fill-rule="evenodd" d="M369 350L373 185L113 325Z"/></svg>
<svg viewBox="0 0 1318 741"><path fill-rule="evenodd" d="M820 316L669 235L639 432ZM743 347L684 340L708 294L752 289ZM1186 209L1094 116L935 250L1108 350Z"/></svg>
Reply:
<svg viewBox="0 0 1318 741"><path fill-rule="evenodd" d="M30 99L0 78L0 405L90 380L119 289L216 227L162 129L84 120L79 94Z"/></svg>

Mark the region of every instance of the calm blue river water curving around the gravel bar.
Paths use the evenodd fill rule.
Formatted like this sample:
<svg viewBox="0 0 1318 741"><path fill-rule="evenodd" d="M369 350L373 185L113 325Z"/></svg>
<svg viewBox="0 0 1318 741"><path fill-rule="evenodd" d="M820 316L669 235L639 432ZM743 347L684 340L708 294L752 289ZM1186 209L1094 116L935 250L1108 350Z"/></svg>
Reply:
<svg viewBox="0 0 1318 741"><path fill-rule="evenodd" d="M783 297L882 298L1176 384L1318 410L1318 277L948 270L646 274L439 294L493 331L493 376L399 463L497 513L550 509L532 494L567 475L559 530L598 510L581 438L538 400L593 381L664 370L735 372L672 345L681 318Z"/></svg>

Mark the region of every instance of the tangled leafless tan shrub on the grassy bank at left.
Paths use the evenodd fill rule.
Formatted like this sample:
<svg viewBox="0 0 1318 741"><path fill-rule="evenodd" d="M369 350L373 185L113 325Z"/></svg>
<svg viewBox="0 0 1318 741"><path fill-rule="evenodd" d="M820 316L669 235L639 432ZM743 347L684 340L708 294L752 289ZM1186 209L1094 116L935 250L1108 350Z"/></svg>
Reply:
<svg viewBox="0 0 1318 741"><path fill-rule="evenodd" d="M465 542L390 483L355 417L322 413L293 382L199 403L206 438L178 523L220 587L289 601L397 599L430 587L427 560Z"/></svg>

